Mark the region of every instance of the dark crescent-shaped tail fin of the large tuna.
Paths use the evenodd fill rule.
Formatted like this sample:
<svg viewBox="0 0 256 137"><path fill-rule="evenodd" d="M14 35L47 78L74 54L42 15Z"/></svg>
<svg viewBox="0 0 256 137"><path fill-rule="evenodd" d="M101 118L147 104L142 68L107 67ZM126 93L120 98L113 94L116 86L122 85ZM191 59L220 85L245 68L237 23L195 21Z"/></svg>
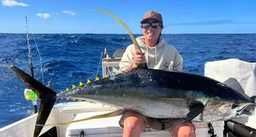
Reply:
<svg viewBox="0 0 256 137"><path fill-rule="evenodd" d="M34 136L38 136L43 128L43 126L37 125L45 125L48 116L51 113L52 107L55 104L57 97L56 92L47 88L42 83L38 82L36 79L24 73L21 69L15 67L14 65L7 65L9 69L13 71L23 82L33 90L40 98L40 109L37 115L36 127L34 131Z"/></svg>

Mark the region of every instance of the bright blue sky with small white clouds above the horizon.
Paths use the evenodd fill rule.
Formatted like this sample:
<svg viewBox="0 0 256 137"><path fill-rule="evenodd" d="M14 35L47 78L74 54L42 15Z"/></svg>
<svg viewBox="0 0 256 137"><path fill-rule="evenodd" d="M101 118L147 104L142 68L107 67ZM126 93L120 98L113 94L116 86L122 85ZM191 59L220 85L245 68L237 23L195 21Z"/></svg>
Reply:
<svg viewBox="0 0 256 137"><path fill-rule="evenodd" d="M164 34L256 33L255 0L144 1L144 0L1 0L0 33L111 33L127 34L115 14L134 34L141 34L140 20L151 9L160 12Z"/></svg>

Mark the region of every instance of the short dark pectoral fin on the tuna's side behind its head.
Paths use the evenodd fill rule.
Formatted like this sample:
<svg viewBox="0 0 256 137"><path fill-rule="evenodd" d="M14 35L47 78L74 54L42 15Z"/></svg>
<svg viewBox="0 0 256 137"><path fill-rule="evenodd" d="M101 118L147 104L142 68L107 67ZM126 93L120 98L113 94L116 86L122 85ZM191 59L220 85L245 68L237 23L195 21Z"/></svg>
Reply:
<svg viewBox="0 0 256 137"><path fill-rule="evenodd" d="M193 120L196 116L198 116L204 110L204 105L201 103L191 103L189 110L189 114L186 115L185 123Z"/></svg>

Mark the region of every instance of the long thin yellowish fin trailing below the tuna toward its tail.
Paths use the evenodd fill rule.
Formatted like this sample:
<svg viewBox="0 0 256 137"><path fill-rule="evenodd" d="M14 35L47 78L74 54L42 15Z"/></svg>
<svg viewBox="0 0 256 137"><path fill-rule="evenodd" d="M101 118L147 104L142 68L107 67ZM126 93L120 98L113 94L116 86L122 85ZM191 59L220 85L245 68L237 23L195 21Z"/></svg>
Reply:
<svg viewBox="0 0 256 137"><path fill-rule="evenodd" d="M102 118L110 118L110 117L114 117L114 116L119 116L124 114L125 110L123 109L117 109L115 111L111 111L110 113L106 113L106 114L101 114L101 115L94 115L94 116L90 116L88 118L85 119L79 119L79 120L73 120L73 121L67 121L65 123L57 123L57 124L46 124L46 125L38 125L38 126L56 126L56 125L66 125L66 124L71 124L71 123L76 123L76 122L80 122L80 121L86 121L86 120L92 120L92 119L102 119Z"/></svg>

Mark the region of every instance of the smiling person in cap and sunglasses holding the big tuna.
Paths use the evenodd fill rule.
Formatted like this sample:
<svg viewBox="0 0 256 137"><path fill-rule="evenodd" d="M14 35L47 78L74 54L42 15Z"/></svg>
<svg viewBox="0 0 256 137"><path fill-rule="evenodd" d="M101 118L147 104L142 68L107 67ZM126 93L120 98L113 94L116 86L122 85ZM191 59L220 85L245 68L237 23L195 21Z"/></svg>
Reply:
<svg viewBox="0 0 256 137"><path fill-rule="evenodd" d="M126 48L120 62L120 72L127 72L139 64L147 65L150 69L183 70L183 59L178 50L161 38L163 18L160 13L149 11L141 20L142 37L136 40L141 50L136 50L131 44ZM195 136L192 123L184 123L184 119L155 119L128 111L122 115L120 125L124 128L123 136L140 136L146 125L157 130L169 130L176 136Z"/></svg>

